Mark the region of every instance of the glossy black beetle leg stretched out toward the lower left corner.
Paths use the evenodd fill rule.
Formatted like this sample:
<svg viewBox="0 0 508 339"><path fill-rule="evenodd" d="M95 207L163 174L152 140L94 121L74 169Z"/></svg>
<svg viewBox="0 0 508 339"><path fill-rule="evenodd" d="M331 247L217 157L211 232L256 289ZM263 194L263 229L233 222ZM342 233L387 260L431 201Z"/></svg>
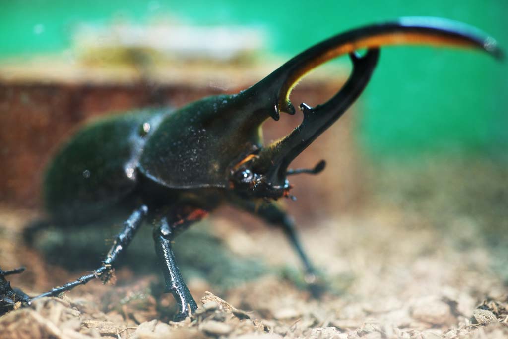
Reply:
<svg viewBox="0 0 508 339"><path fill-rule="evenodd" d="M123 229L118 233L116 236L116 239L113 243L113 246L108 252L108 255L106 258L102 261L102 266L98 269L94 270L92 273L83 275L81 278L76 279L73 282L67 283L61 287L55 287L49 290L46 293L40 294L38 296L35 296L30 299L30 301L39 299L42 297L50 297L50 296L57 296L58 294L70 291L76 286L79 285L85 285L90 280L95 278L101 278L103 281L107 281L110 277L111 269L113 268L113 264L115 260L119 257L119 255L129 246L132 239L134 238L134 235L136 234L137 230L143 223L143 220L145 219L146 215L148 213L148 207L145 205L139 207L136 209L132 214L131 217L129 217L128 220L126 220L123 223Z"/></svg>

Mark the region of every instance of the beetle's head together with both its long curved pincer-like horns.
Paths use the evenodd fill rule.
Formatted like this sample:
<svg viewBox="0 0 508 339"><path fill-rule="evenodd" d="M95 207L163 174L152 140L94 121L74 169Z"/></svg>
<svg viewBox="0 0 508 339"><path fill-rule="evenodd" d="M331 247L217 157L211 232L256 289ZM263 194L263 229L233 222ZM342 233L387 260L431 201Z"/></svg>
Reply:
<svg viewBox="0 0 508 339"><path fill-rule="evenodd" d="M249 197L291 197L287 176L319 173L324 162L312 170L288 170L290 163L328 129L362 93L376 66L379 46L397 44L452 45L484 50L501 58L494 39L474 27L437 18L401 18L398 21L365 26L334 36L290 59L242 95L257 98L270 115L279 111L295 113L289 100L292 88L315 67L336 56L350 53L353 72L342 89L328 102L316 107L300 105L302 123L289 135L241 158L230 171L230 186ZM367 48L364 56L355 54Z"/></svg>

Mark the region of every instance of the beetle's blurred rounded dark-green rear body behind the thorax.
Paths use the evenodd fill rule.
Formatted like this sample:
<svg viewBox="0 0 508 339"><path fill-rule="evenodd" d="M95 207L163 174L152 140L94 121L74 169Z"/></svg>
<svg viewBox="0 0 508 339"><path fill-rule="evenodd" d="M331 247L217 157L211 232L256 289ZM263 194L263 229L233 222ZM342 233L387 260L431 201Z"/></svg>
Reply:
<svg viewBox="0 0 508 339"><path fill-rule="evenodd" d="M57 151L44 177L44 203L56 220L81 223L136 187L146 139L169 109L111 115L86 124Z"/></svg>

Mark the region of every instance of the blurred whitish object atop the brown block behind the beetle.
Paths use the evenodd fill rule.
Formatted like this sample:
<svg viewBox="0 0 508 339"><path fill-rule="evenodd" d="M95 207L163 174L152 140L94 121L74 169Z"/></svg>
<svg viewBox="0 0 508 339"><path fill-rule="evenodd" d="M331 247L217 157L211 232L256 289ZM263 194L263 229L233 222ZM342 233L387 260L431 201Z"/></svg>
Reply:
<svg viewBox="0 0 508 339"><path fill-rule="evenodd" d="M163 59L231 61L259 51L264 34L243 26L82 24L73 42L82 57L92 60L119 61L125 52L136 51Z"/></svg>

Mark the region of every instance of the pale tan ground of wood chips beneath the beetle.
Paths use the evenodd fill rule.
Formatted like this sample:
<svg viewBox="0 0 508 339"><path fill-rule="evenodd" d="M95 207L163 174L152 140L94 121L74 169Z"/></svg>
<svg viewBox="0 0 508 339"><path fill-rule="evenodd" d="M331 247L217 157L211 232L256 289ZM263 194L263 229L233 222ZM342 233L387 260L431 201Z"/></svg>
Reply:
<svg viewBox="0 0 508 339"><path fill-rule="evenodd" d="M244 216L230 217L231 211L223 210L176 239L176 244L198 244L177 249L200 306L192 318L170 321L174 301L161 294L160 274L147 264L154 258L153 245L145 242L147 230L148 239L140 235L129 257L141 263L116 269L116 286L94 281L61 298L21 307L0 317L0 337L508 337L506 279L500 269L506 262L508 171L484 163L462 165L404 172L386 167L385 174L371 175L372 197L361 208L297 220L327 284L319 300L305 289L299 262L282 234L239 227ZM54 243L79 250L72 236L90 254L93 244L86 233L58 238L57 231L48 231L37 249L26 248L21 230L37 213L3 208L0 215L2 268L27 267L9 276L13 286L35 294L93 268L55 259L72 257L73 251L62 252ZM59 240L51 243L55 237ZM56 256L48 254L51 248Z"/></svg>

